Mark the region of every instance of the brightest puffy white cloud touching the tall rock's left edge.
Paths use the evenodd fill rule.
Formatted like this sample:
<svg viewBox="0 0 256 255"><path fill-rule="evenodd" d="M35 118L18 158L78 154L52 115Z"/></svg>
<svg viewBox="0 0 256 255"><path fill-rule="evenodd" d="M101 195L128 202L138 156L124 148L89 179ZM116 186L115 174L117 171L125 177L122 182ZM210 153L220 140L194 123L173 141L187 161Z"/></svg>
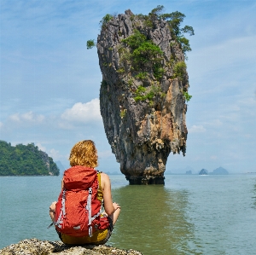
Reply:
<svg viewBox="0 0 256 255"><path fill-rule="evenodd" d="M77 102L72 108L65 110L65 112L61 114L61 119L75 122L101 120L100 100L95 98L85 103Z"/></svg>

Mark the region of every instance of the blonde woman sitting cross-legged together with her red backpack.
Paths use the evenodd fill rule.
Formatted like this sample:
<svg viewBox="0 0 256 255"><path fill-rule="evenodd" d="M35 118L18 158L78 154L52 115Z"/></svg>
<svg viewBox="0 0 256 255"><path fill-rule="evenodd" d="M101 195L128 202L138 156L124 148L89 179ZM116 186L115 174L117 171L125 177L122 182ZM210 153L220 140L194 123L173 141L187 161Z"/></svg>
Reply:
<svg viewBox="0 0 256 255"><path fill-rule="evenodd" d="M49 206L49 216L65 244L104 244L119 217L120 206L112 201L108 175L95 170L98 156L94 142L76 143L69 161L72 167L64 172L61 194L58 202Z"/></svg>

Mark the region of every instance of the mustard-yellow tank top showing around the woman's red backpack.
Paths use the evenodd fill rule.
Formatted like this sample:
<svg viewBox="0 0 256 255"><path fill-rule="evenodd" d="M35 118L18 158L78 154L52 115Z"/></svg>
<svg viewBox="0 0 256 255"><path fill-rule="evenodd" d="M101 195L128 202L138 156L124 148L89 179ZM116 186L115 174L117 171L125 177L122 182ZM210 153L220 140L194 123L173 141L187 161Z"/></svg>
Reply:
<svg viewBox="0 0 256 255"><path fill-rule="evenodd" d="M103 192L102 192L102 185L101 185L101 173L97 173L99 188L97 191L97 199L102 202L103 200ZM108 229L97 230L90 236L71 236L65 235L61 233L62 241L67 245L83 245L83 244L90 244L95 243L97 241L102 241L107 237Z"/></svg>

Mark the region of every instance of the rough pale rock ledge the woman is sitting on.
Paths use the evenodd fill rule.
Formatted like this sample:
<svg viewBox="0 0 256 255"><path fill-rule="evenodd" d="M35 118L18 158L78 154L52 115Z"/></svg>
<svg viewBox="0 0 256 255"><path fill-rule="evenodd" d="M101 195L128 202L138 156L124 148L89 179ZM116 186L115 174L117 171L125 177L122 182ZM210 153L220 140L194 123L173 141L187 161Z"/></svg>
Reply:
<svg viewBox="0 0 256 255"><path fill-rule="evenodd" d="M40 241L38 239L26 239L17 244L7 246L0 250L1 255L102 255L122 254L141 255L143 253L134 250L120 250L112 246L73 246L68 247L61 241Z"/></svg>

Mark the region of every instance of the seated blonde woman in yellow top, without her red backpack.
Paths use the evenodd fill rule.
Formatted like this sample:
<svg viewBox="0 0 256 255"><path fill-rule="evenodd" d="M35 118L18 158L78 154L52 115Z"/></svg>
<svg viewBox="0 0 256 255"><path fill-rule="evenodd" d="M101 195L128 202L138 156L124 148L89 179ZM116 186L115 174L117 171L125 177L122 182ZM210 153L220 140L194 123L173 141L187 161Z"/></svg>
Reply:
<svg viewBox="0 0 256 255"><path fill-rule="evenodd" d="M95 143L90 140L84 140L77 142L71 150L69 157L70 165L82 165L95 169L98 165L98 156L95 147ZM113 203L111 195L111 183L107 174L98 172L97 180L99 188L97 190L97 199L103 202L104 212L102 215L108 217L109 227L108 229L102 229L94 232L92 236L71 236L60 233L57 229L57 233L60 236L61 241L67 245L85 245L85 244L104 244L108 241L112 234L113 225L116 223L119 217L120 206L117 203ZM65 183L63 179L61 181L61 189L64 188ZM49 216L53 222L56 222L55 218L55 206L56 202L53 202L49 206Z"/></svg>

